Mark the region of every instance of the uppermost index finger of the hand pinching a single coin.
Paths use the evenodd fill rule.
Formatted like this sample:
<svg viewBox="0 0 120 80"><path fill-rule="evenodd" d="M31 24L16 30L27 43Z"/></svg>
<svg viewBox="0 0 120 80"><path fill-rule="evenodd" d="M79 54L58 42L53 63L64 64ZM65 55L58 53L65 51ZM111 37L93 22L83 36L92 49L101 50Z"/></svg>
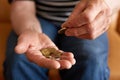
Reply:
<svg viewBox="0 0 120 80"><path fill-rule="evenodd" d="M82 13L79 13L76 15L73 15L68 19L66 23L64 23L62 26L64 27L80 27L82 25L91 23L95 17L99 14L101 11L101 7L99 7L100 4L98 2L89 2L84 9Z"/></svg>

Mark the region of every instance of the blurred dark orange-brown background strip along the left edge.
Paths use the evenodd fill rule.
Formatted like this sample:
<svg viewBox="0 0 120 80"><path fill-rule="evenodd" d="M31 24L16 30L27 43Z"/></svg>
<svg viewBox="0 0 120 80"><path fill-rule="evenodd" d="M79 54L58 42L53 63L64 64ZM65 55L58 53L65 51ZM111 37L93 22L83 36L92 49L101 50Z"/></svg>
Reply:
<svg viewBox="0 0 120 80"><path fill-rule="evenodd" d="M0 80L3 80L3 61L5 58L6 40L11 29L9 20L10 5L7 0L0 0Z"/></svg>

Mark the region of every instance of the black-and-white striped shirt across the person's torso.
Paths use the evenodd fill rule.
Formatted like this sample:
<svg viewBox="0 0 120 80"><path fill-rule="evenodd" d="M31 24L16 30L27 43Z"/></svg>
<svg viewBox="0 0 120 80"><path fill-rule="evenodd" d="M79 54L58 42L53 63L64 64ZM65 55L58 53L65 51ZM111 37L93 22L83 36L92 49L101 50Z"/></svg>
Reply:
<svg viewBox="0 0 120 80"><path fill-rule="evenodd" d="M61 24L67 20L79 0L34 0L36 3L37 15Z"/></svg>

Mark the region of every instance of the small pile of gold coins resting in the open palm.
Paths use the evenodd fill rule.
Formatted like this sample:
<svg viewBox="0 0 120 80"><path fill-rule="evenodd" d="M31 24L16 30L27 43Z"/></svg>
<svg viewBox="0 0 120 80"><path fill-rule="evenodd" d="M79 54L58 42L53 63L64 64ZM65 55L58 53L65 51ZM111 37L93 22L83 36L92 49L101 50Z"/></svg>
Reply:
<svg viewBox="0 0 120 80"><path fill-rule="evenodd" d="M55 48L43 48L40 50L42 55L46 58L50 59L60 59L60 56L63 54L62 52L56 50Z"/></svg>

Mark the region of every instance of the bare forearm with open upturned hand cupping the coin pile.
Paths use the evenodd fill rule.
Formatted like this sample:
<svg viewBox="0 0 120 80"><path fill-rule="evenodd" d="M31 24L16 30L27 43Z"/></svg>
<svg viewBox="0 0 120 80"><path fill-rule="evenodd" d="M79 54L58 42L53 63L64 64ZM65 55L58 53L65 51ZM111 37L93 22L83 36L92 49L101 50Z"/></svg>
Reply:
<svg viewBox="0 0 120 80"><path fill-rule="evenodd" d="M54 47L57 50L58 48L46 34L42 33L35 14L35 3L32 1L18 0L11 4L11 22L18 34L16 53L25 53L30 61L45 68L71 68L75 64L75 59L70 52L63 52L66 54L63 54L60 60L48 59L42 55L40 50L43 48Z"/></svg>

